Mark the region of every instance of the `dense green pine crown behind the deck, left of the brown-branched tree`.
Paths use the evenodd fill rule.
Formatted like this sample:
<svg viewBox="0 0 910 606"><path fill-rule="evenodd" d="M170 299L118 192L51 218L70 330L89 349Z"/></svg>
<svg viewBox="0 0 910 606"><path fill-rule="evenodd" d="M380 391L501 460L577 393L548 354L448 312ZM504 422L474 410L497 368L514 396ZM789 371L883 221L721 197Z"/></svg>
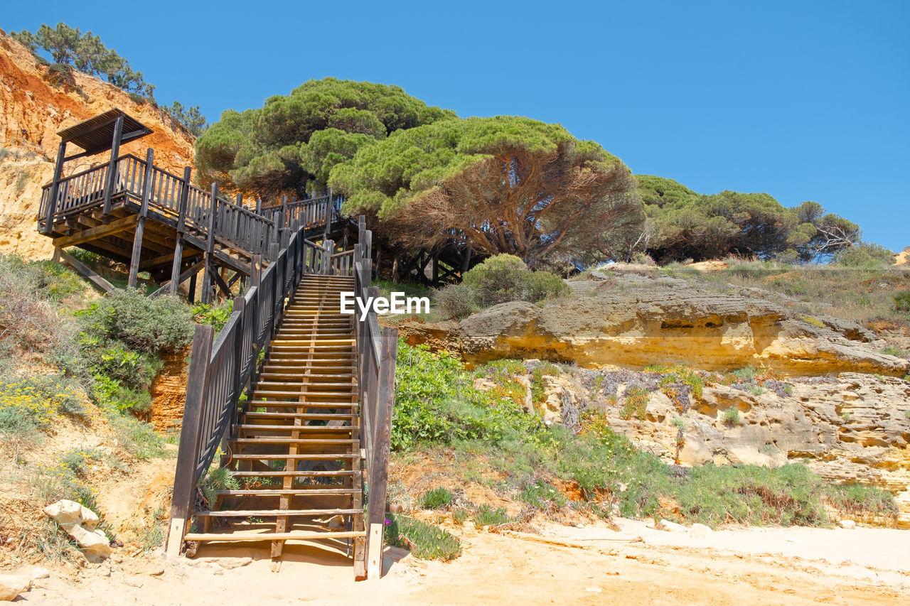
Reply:
<svg viewBox="0 0 910 606"><path fill-rule="evenodd" d="M228 110L197 139L206 182L271 197L321 190L332 167L405 128L454 116L399 86L324 78L243 113Z"/></svg>

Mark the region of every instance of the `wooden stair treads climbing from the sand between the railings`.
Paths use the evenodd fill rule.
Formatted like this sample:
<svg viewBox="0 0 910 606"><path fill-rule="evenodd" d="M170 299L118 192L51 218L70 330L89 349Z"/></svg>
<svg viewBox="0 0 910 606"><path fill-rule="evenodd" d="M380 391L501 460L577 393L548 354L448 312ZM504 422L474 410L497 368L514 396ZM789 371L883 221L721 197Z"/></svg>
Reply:
<svg viewBox="0 0 910 606"><path fill-rule="evenodd" d="M276 570L287 540L362 549L357 347L354 317L339 313L354 287L353 277L301 278L227 440L222 466L239 488L218 490L185 540L268 540Z"/></svg>

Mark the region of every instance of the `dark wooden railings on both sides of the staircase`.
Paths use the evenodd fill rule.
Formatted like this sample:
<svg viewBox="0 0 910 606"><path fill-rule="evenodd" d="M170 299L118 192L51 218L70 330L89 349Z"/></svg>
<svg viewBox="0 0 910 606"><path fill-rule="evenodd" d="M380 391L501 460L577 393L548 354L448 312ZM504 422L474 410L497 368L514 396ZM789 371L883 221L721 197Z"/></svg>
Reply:
<svg viewBox="0 0 910 606"><path fill-rule="evenodd" d="M361 300L376 296L371 287L372 233L359 217L358 244L349 253L334 253L327 240L306 239L307 225L298 229L274 262L261 270L253 259L253 286L234 299L234 308L213 343L213 328L197 325L193 338L187 399L177 450L177 471L171 500L167 552L177 554L187 532L187 520L197 496L197 484L214 460L219 445L237 421L240 394L255 385L258 359L278 329L288 296L305 274L354 276L354 294ZM391 414L395 389L398 329L380 328L375 311L356 315L358 351L360 449L366 471L368 505L365 537L354 541L355 574L381 573L382 530L388 484Z"/></svg>

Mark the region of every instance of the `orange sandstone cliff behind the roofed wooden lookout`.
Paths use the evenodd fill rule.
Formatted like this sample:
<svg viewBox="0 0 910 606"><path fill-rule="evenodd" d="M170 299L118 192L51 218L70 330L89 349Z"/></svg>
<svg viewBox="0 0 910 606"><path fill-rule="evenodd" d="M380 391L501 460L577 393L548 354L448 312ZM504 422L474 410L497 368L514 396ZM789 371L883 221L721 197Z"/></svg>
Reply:
<svg viewBox="0 0 910 606"><path fill-rule="evenodd" d="M155 163L179 174L193 161L193 136L163 110L136 103L116 86L73 71L52 72L0 30L0 252L49 258L50 240L35 231L41 187L54 173L61 128L113 107L150 127L153 134L123 146L143 157L156 151ZM66 174L105 161L88 157L69 162Z"/></svg>

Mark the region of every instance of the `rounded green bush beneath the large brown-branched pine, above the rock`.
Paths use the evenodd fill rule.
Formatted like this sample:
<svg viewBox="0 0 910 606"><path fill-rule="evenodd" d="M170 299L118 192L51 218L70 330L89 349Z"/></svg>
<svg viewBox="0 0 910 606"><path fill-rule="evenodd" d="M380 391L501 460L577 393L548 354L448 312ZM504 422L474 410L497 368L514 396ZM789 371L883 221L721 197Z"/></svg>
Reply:
<svg viewBox="0 0 910 606"><path fill-rule="evenodd" d="M495 255L470 268L463 282L480 307L507 301L541 301L571 290L562 278L549 271L530 271L518 257Z"/></svg>

